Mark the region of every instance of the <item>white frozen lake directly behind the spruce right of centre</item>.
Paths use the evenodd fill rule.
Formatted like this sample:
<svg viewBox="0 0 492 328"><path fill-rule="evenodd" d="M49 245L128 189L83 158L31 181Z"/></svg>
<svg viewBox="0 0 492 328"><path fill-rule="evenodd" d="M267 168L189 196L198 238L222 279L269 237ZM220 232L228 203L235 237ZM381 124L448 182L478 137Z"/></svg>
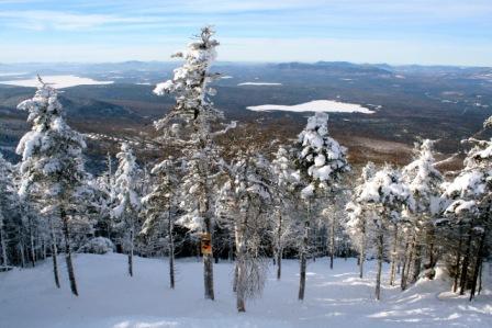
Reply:
<svg viewBox="0 0 492 328"><path fill-rule="evenodd" d="M331 113L362 113L372 114L373 111L356 103L339 102L334 100L313 100L297 105L277 105L266 104L258 106L248 106L250 111L284 111L284 112L331 112Z"/></svg>

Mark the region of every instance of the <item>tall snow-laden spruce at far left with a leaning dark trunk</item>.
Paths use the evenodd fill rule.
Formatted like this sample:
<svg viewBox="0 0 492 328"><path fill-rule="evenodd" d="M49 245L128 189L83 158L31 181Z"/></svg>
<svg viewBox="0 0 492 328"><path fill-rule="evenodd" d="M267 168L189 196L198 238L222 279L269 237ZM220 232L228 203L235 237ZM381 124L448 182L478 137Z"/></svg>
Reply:
<svg viewBox="0 0 492 328"><path fill-rule="evenodd" d="M29 112L27 122L32 124L32 129L21 138L16 148L22 156L19 194L40 204L45 216L62 222L70 289L78 295L71 261L70 220L76 216L83 217L80 200L90 194L82 159L86 143L65 122L56 90L41 78L34 98L21 102L18 109ZM53 259L56 260L56 249Z"/></svg>

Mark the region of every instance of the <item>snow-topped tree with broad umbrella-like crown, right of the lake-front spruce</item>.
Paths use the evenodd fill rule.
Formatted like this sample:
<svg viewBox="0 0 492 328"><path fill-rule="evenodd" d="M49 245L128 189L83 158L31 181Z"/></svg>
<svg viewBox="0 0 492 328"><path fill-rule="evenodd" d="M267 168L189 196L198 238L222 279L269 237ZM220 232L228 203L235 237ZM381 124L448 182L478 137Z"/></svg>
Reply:
<svg viewBox="0 0 492 328"><path fill-rule="evenodd" d="M384 234L390 227L393 229L393 252L392 252L392 268L394 270L395 256L394 248L399 240L398 226L402 219L402 211L414 208L414 199L409 186L403 182L400 171L384 166L381 170L376 172L369 181L364 184L357 203L373 206L376 216L373 217L373 225L377 229L376 242L378 247L378 272L376 275L376 298L381 296L381 270L384 251Z"/></svg>

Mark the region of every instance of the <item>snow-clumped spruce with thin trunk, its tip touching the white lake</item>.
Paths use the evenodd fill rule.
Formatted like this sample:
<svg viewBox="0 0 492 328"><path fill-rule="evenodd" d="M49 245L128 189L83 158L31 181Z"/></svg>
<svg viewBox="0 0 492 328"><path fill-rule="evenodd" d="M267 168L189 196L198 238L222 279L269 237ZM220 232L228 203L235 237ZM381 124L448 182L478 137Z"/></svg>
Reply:
<svg viewBox="0 0 492 328"><path fill-rule="evenodd" d="M329 136L328 114L326 113L316 113L308 118L308 125L299 135L295 147L298 150L295 165L300 172L300 181L304 184L300 194L301 199L305 201L308 212L300 249L299 299L304 299L313 199L339 192L337 182L342 174L349 171L350 168L346 159L347 149Z"/></svg>

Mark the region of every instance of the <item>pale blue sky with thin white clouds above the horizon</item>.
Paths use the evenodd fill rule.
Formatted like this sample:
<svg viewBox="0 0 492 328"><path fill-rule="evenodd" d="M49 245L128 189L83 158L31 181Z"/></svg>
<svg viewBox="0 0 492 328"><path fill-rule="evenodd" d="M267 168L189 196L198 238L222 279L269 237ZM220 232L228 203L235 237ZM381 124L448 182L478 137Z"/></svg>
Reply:
<svg viewBox="0 0 492 328"><path fill-rule="evenodd" d="M0 0L0 63L166 61L208 24L221 61L492 66L492 0Z"/></svg>

